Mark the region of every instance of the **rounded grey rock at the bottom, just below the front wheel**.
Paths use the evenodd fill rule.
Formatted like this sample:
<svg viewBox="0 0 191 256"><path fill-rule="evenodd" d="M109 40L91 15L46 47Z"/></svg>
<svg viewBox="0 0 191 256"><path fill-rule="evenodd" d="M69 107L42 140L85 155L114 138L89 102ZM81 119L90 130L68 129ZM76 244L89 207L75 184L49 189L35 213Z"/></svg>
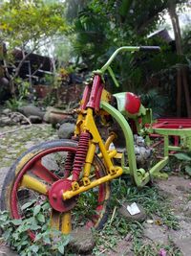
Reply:
<svg viewBox="0 0 191 256"><path fill-rule="evenodd" d="M86 227L79 227L71 233L70 246L74 251L86 253L93 250L96 242L91 229Z"/></svg>

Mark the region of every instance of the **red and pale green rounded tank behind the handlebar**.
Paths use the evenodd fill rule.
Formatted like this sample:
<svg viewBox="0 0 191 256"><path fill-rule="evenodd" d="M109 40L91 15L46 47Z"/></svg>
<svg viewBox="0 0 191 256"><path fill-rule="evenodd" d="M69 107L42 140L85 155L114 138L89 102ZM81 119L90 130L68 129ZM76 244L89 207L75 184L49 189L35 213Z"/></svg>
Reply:
<svg viewBox="0 0 191 256"><path fill-rule="evenodd" d="M135 116L140 110L140 99L132 92L120 92L113 95L117 100L117 109L123 115Z"/></svg>

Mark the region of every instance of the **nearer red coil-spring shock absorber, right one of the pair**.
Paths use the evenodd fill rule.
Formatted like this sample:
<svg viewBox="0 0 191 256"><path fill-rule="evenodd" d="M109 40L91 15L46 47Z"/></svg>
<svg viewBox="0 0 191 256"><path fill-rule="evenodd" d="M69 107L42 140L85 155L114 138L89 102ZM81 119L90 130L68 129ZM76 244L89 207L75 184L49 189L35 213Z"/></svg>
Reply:
<svg viewBox="0 0 191 256"><path fill-rule="evenodd" d="M88 151L88 143L90 140L89 132L82 132L79 137L79 143L77 151L74 157L74 166L73 166L73 181L77 181L83 164L86 159L86 154Z"/></svg>

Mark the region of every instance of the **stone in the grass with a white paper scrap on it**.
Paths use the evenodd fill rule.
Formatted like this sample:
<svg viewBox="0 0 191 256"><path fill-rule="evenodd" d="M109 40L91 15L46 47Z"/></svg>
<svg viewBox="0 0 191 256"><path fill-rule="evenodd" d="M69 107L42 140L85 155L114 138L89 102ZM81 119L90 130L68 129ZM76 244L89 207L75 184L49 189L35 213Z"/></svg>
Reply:
<svg viewBox="0 0 191 256"><path fill-rule="evenodd" d="M136 215L131 215L127 211L127 205L130 205L130 204L132 204L132 202L123 203L123 205L118 209L118 213L122 217L127 219L128 221L144 221L146 219L146 213L145 213L144 208L139 203L137 203L138 209L140 210L140 213L138 213Z"/></svg>

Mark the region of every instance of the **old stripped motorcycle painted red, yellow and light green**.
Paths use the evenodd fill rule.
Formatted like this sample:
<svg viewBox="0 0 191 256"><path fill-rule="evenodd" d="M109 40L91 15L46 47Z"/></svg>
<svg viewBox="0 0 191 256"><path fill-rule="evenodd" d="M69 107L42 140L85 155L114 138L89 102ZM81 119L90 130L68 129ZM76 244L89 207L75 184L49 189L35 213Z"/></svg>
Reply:
<svg viewBox="0 0 191 256"><path fill-rule="evenodd" d="M126 174L132 177L138 187L142 187L153 176L161 175L159 171L168 162L168 152L172 150L172 146L164 151L164 157L149 171L138 169L133 131L127 121L127 117L134 120L137 131L141 133L143 130L147 136L158 132L158 128L151 126L151 109L141 105L139 98L132 93L115 94L115 108L110 104L111 94L104 89L106 71L118 86L110 66L117 54L142 50L159 51L159 47L120 47L101 69L94 71L94 80L85 86L80 107L76 109L77 120L72 139L35 146L11 166L2 189L1 209L8 209L13 219L29 217L28 209L22 207L27 202L32 200L33 203L40 203L48 200L51 208L47 215L50 215L51 226L63 234L69 234L77 225L98 229L107 220L110 181ZM127 156L124 151L110 147L117 138L115 132L111 132L106 141L101 138L96 117L103 120L112 117L116 120L124 135ZM186 133L189 138L190 131ZM168 147L168 134L161 130L159 132L165 135L165 146ZM53 154L59 163L58 170L54 171L43 164L44 159ZM29 232L34 239L36 234Z"/></svg>

